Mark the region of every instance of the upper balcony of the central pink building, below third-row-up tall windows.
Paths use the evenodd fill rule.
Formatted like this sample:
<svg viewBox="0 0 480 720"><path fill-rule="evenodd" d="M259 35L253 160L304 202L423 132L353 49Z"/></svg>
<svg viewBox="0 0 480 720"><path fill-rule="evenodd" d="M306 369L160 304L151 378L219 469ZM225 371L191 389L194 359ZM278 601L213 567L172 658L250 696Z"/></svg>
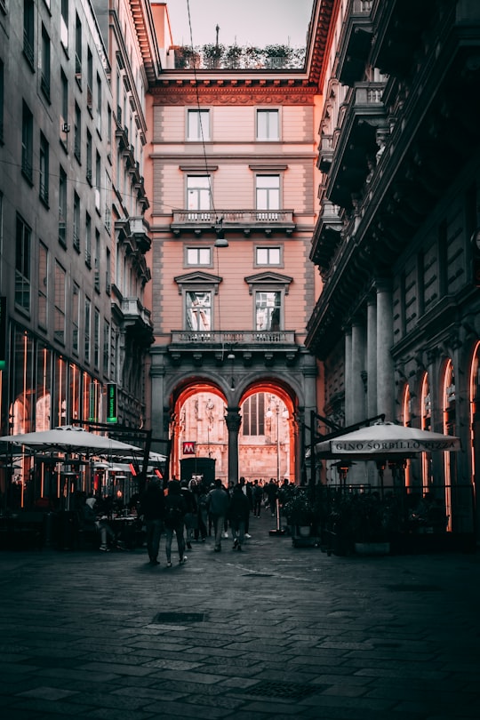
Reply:
<svg viewBox="0 0 480 720"><path fill-rule="evenodd" d="M212 231L221 220L222 229L230 232L242 232L249 236L251 232L285 232L292 235L295 229L292 210L174 210L170 226L175 236L182 232L193 232L201 236Z"/></svg>

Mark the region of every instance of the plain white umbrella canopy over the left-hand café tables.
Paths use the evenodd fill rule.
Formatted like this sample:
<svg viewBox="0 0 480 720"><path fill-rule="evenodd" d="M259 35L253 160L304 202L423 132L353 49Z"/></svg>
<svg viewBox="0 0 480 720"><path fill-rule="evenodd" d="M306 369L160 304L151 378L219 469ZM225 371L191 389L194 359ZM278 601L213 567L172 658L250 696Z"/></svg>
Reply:
<svg viewBox="0 0 480 720"><path fill-rule="evenodd" d="M74 425L22 435L4 435L0 437L2 443L26 445L41 451L75 452L79 455L132 455L132 452L142 452L136 445L94 435Z"/></svg>

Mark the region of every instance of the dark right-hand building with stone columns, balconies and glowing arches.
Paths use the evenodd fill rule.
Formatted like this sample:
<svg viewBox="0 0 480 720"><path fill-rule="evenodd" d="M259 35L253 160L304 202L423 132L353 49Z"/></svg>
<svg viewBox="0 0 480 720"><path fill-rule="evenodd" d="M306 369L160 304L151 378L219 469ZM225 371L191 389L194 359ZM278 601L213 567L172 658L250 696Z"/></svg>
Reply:
<svg viewBox="0 0 480 720"><path fill-rule="evenodd" d="M324 289L306 344L324 364L321 412L460 436L422 453L407 488L476 525L478 483L478 4L338 4L319 91L321 213L311 260ZM372 467L371 467L372 466ZM360 463L356 483L378 484ZM333 468L327 481L335 481Z"/></svg>

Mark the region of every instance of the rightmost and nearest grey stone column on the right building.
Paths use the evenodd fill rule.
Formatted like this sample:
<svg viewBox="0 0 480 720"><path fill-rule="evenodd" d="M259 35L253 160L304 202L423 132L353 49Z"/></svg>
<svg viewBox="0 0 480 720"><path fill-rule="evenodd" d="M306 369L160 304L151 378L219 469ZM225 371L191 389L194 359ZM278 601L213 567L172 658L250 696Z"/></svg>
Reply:
<svg viewBox="0 0 480 720"><path fill-rule="evenodd" d="M392 290L389 279L379 279L377 289L377 414L395 420L395 380L391 354L393 345Z"/></svg>

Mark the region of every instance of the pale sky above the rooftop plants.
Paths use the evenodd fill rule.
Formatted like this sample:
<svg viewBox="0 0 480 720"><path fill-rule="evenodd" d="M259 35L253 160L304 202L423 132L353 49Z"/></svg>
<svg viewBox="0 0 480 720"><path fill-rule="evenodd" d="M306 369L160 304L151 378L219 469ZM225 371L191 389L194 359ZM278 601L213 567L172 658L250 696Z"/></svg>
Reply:
<svg viewBox="0 0 480 720"><path fill-rule="evenodd" d="M313 0L166 0L174 44L306 44Z"/></svg>

